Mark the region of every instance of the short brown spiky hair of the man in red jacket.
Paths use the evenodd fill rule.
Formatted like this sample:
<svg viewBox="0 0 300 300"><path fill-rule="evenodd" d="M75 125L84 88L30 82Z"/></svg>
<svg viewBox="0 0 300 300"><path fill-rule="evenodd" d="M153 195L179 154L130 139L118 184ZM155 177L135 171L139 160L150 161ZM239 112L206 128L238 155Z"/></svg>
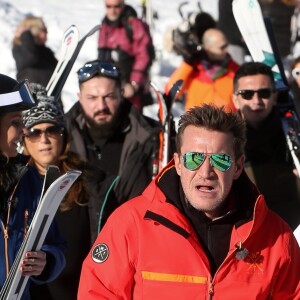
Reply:
<svg viewBox="0 0 300 300"><path fill-rule="evenodd" d="M237 112L226 112L224 106L211 104L195 106L186 111L179 120L176 137L177 152L180 153L182 136L188 126L203 127L208 130L232 133L234 137L235 159L244 153L246 144L246 123Z"/></svg>

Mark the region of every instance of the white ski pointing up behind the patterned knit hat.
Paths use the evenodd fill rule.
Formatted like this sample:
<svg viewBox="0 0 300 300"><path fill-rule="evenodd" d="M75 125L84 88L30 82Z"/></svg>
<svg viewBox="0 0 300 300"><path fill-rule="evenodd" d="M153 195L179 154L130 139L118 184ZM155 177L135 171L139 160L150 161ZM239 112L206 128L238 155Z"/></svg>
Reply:
<svg viewBox="0 0 300 300"><path fill-rule="evenodd" d="M79 32L75 25L71 25L64 33L59 61L55 67L55 70L47 84L47 95L52 95L52 92L63 73L66 65L71 59L79 40Z"/></svg>

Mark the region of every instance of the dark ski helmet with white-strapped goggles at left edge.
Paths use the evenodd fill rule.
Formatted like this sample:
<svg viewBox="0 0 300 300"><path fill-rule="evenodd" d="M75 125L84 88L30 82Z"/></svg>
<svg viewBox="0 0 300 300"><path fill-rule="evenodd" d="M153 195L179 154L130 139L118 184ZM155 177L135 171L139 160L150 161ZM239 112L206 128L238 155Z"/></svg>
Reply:
<svg viewBox="0 0 300 300"><path fill-rule="evenodd" d="M27 81L0 74L0 113L22 111L36 105Z"/></svg>

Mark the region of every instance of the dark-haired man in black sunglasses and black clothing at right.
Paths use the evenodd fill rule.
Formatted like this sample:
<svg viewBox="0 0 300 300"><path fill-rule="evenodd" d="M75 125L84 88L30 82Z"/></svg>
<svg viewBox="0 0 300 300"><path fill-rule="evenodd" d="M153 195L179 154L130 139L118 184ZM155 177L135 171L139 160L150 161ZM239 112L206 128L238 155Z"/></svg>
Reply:
<svg viewBox="0 0 300 300"><path fill-rule="evenodd" d="M271 69L243 64L234 77L233 102L247 123L245 170L264 194L268 206L295 229L300 219L300 180L276 109Z"/></svg>

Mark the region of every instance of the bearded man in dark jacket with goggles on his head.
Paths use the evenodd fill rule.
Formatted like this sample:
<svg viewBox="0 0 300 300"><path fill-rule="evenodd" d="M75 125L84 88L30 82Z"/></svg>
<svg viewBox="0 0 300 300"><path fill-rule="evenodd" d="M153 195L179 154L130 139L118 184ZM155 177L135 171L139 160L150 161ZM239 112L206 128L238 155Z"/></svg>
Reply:
<svg viewBox="0 0 300 300"><path fill-rule="evenodd" d="M66 115L71 150L90 163L92 242L112 211L152 179L158 127L126 99L119 70L99 60L78 71L79 101Z"/></svg>

